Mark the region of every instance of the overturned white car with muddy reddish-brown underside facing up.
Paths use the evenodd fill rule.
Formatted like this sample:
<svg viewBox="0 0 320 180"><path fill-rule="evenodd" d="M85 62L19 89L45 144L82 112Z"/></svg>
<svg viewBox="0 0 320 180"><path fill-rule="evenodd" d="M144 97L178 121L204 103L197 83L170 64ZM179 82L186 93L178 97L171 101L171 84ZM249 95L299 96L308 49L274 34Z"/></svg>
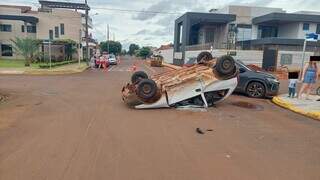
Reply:
<svg viewBox="0 0 320 180"><path fill-rule="evenodd" d="M122 88L122 99L131 107L164 108L195 105L210 107L227 98L238 83L231 56L212 58L202 52L197 64L151 76L135 72Z"/></svg>

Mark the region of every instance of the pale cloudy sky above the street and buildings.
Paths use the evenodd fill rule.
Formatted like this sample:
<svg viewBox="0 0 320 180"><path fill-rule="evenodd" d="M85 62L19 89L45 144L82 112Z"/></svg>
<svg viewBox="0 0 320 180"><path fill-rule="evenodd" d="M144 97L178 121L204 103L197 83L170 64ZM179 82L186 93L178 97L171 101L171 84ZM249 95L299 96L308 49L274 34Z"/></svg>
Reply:
<svg viewBox="0 0 320 180"><path fill-rule="evenodd" d="M6 0L6 3L39 6L37 0ZM88 3L92 9L94 37L105 40L109 24L111 38L114 36L124 47L130 43L159 46L172 42L174 20L187 11L208 12L228 4L278 7L289 12L320 11L319 0L88 0Z"/></svg>

